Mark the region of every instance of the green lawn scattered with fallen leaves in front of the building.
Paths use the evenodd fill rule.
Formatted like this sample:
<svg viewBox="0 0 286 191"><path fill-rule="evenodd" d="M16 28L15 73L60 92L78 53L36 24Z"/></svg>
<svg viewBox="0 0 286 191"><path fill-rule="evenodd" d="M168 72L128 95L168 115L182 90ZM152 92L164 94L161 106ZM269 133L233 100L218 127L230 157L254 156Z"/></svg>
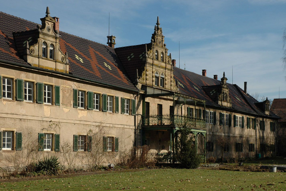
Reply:
<svg viewBox="0 0 286 191"><path fill-rule="evenodd" d="M286 190L285 173L211 169L114 171L69 178L0 182L0 190Z"/></svg>

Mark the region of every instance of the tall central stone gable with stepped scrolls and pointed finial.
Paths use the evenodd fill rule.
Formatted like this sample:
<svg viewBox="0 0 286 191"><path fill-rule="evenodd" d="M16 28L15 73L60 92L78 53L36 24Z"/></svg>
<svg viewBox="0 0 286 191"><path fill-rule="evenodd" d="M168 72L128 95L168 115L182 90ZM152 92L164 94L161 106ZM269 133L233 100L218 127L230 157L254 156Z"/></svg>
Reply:
<svg viewBox="0 0 286 191"><path fill-rule="evenodd" d="M154 27L151 44L146 46L146 65L139 83L148 86L178 91L173 75L171 54L164 44L164 36L160 27L159 17Z"/></svg>

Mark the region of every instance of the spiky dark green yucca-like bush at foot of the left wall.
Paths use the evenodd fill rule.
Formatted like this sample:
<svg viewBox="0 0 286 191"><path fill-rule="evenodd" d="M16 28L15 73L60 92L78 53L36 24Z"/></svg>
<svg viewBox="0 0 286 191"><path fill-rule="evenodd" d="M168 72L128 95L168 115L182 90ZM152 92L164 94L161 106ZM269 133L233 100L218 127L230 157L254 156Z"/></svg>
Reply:
<svg viewBox="0 0 286 191"><path fill-rule="evenodd" d="M48 156L36 163L35 172L44 175L56 175L61 170L58 157Z"/></svg>

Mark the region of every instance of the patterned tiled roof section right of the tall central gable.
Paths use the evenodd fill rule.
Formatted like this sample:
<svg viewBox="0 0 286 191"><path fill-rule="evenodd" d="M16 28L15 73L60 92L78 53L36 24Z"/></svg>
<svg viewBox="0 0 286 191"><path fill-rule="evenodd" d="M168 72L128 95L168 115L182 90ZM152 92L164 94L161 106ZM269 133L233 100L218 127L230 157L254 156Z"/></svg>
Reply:
<svg viewBox="0 0 286 191"><path fill-rule="evenodd" d="M222 109L227 109L227 107L222 107L215 102L217 92L221 90L219 88L221 81L206 76L196 74L187 70L182 70L177 67L174 69L174 78L178 80L178 88L180 92L189 95L194 98L206 100L206 105L213 107L221 107ZM229 96L231 97L232 110L245 112L253 115L259 114L264 117L275 117L277 116L270 112L267 116L261 110L255 106L255 100L249 94L245 94L244 91L236 84L227 83L229 88ZM212 93L213 92L213 93Z"/></svg>

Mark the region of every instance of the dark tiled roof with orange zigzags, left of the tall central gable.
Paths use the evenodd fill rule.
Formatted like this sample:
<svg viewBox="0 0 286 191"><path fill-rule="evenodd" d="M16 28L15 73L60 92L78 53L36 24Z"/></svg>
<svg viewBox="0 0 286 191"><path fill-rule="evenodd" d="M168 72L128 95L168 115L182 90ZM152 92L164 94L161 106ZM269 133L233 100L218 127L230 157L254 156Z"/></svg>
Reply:
<svg viewBox="0 0 286 191"><path fill-rule="evenodd" d="M19 49L19 47L25 46L23 44L25 35L32 32L29 30L34 29L37 29L37 23L0 12L0 60L29 65L19 54L25 51L25 48ZM13 32L17 32L14 37ZM70 74L137 91L114 48L62 31L59 34L61 35L60 49L63 53L68 53ZM23 46L20 46L21 44Z"/></svg>

